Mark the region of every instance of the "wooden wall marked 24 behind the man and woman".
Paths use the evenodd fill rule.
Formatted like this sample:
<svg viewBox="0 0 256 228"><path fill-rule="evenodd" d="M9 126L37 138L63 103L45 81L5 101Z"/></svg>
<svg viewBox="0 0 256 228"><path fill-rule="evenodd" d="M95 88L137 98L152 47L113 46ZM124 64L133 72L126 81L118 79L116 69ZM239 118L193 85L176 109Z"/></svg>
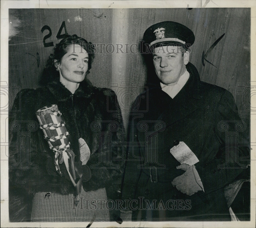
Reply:
<svg viewBox="0 0 256 228"><path fill-rule="evenodd" d="M172 20L195 34L190 62L197 67L201 80L234 95L237 83L247 84L250 80L250 17L250 8L9 9L9 85L16 83L22 89L39 87L39 78L53 49L44 47L43 38L49 33L41 32L45 25L52 32L46 42L54 45L60 41L56 35L62 21L68 34L77 34L94 44L131 45L142 40L149 26ZM223 33L225 36L207 57L216 68L206 61L203 66L202 52ZM141 54L109 54L104 49L103 53L96 53L90 72L89 80L98 87L108 87L110 83L120 86L122 81L139 86L145 83L147 75ZM134 99L131 94L121 102L129 107ZM241 109L241 97L236 102Z"/></svg>

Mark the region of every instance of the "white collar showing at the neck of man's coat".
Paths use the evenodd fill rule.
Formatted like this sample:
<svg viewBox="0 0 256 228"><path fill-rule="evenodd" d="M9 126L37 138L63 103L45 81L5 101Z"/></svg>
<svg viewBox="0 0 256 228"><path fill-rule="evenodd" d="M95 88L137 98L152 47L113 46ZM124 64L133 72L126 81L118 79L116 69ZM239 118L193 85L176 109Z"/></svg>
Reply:
<svg viewBox="0 0 256 228"><path fill-rule="evenodd" d="M164 92L166 92L170 97L174 98L178 92L183 88L189 78L189 73L187 69L184 74L180 76L179 80L174 85L165 85L160 82L161 88Z"/></svg>

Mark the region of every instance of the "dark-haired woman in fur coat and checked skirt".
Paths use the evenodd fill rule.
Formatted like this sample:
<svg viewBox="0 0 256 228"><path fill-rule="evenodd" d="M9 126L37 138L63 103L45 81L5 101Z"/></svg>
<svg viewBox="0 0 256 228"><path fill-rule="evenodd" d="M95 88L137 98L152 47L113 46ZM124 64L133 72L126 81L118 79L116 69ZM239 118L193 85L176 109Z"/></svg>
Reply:
<svg viewBox="0 0 256 228"><path fill-rule="evenodd" d="M91 45L77 35L61 40L44 70L42 82L47 85L22 90L21 111L9 122L10 142L17 142L15 124L19 123L23 129L28 123L38 123L37 110L52 104L58 106L69 132L74 163L83 174L80 201L75 203L75 188L64 162L59 164L61 176L42 130L33 129L30 131L30 162L18 164L19 169L9 168L10 221L29 221L30 216L34 222L110 221L108 209L112 207L105 203L119 197L123 164L113 160L121 157L122 152L117 146L110 151L109 141L111 138L111 142L120 142L123 121L113 91L95 88L86 79L93 60ZM18 110L18 100L12 111ZM115 115L108 112L109 108L116 110ZM86 165L81 162L81 142L90 149ZM18 148L9 149L9 156L16 158L9 160L12 167L20 159L18 151ZM102 157L109 159L102 162Z"/></svg>

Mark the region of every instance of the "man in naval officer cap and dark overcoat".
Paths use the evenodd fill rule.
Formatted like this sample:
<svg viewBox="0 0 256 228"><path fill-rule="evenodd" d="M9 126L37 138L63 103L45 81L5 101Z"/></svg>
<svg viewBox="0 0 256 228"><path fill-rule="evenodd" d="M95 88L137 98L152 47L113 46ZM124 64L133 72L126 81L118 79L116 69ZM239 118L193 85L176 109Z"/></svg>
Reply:
<svg viewBox="0 0 256 228"><path fill-rule="evenodd" d="M231 220L224 187L247 167L240 158L249 148L237 150L225 129L239 132L240 142L249 136L231 93L201 82L189 62L194 40L189 28L172 21L144 33L158 80L131 110L122 195L132 220Z"/></svg>

